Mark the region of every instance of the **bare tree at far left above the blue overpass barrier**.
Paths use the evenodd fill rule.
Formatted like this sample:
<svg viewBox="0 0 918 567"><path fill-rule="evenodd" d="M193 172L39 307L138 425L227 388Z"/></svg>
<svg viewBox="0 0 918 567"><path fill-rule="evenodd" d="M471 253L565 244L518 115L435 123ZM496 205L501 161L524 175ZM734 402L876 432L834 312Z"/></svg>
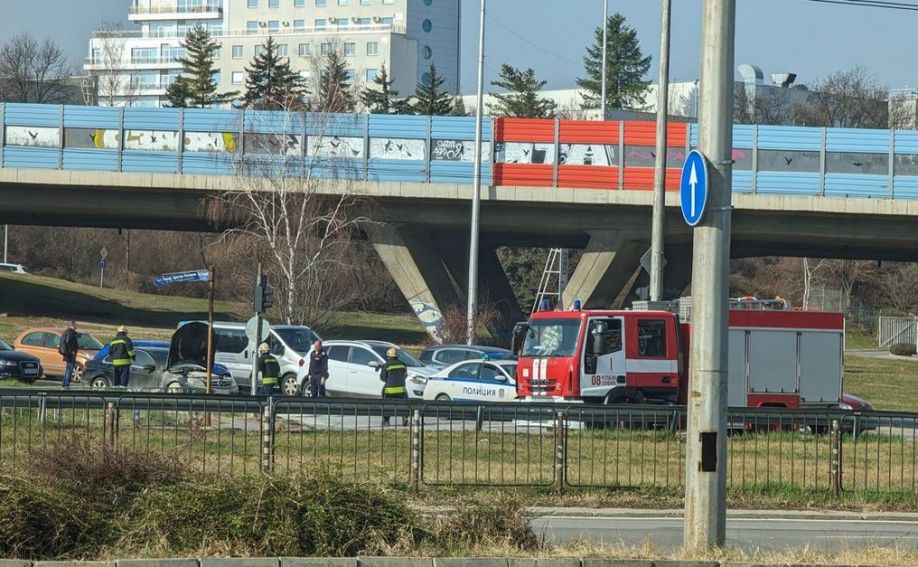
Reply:
<svg viewBox="0 0 918 567"><path fill-rule="evenodd" d="M0 48L0 98L17 103L62 103L71 68L50 38L39 44L28 32Z"/></svg>

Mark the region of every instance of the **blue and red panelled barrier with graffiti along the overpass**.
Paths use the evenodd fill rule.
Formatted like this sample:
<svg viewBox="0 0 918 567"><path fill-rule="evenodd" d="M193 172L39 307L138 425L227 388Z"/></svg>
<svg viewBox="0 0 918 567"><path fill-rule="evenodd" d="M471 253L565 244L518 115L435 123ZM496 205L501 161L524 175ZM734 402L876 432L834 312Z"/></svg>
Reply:
<svg viewBox="0 0 918 567"><path fill-rule="evenodd" d="M4 168L233 175L274 152L303 174L335 161L368 182L473 181L474 117L6 103L0 128ZM669 125L668 191L697 138L696 125ZM486 118L483 139L489 185L653 188L653 122ZM915 199L918 132L737 125L733 191Z"/></svg>

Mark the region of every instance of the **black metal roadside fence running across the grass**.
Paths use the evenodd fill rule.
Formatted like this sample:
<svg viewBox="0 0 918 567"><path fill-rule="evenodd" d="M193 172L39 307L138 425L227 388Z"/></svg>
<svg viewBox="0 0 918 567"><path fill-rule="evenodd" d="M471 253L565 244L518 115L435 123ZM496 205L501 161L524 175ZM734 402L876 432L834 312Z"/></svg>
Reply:
<svg viewBox="0 0 918 567"><path fill-rule="evenodd" d="M733 408L731 488L918 490L918 414ZM684 486L681 406L560 406L0 391L0 471L72 439L206 473L326 468L414 486ZM77 456L78 458L78 456Z"/></svg>

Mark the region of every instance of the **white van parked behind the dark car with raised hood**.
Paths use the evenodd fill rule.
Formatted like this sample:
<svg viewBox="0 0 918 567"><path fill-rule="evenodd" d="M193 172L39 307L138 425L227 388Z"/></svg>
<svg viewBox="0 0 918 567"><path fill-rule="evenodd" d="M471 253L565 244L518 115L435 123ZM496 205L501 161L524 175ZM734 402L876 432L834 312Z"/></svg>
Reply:
<svg viewBox="0 0 918 567"><path fill-rule="evenodd" d="M189 321L182 321L179 327ZM207 323L207 321L203 321ZM305 359L312 343L321 340L311 328L300 325L272 325L268 344L281 365L280 388L285 395L298 393L297 371L308 364ZM245 323L214 321L214 362L229 368L242 392L252 387L252 357L258 357L258 345L245 334Z"/></svg>

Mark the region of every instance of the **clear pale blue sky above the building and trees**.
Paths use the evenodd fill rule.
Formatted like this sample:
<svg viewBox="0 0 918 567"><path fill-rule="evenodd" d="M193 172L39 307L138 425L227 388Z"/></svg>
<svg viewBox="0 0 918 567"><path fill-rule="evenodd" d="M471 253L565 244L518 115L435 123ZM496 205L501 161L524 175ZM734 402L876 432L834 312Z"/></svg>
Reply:
<svg viewBox="0 0 918 567"><path fill-rule="evenodd" d="M474 93L479 0L462 2L462 91ZM660 0L608 0L637 29L645 53L654 56L656 80L660 45ZM918 0L901 0L918 5ZM124 21L129 0L3 1L0 41L28 30L50 37L74 65L82 63L90 32L100 20ZM670 73L673 81L698 76L701 0L672 0ZM891 88L918 86L912 54L918 44L918 11L838 6L808 0L737 0L736 63L765 72L796 72L797 83L863 65ZM583 74L583 55L602 20L602 0L488 0L486 70L489 83L500 64L532 67L546 88L574 86Z"/></svg>

